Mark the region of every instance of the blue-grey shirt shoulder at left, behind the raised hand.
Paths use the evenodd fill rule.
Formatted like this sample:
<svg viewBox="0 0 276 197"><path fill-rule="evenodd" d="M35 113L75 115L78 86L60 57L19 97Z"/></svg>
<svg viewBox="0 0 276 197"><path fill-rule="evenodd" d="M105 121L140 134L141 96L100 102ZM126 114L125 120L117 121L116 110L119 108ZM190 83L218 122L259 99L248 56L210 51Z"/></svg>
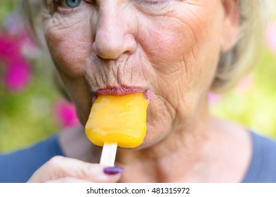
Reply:
<svg viewBox="0 0 276 197"><path fill-rule="evenodd" d="M0 182L27 182L34 171L55 155L63 155L58 136L19 151L0 154Z"/></svg>

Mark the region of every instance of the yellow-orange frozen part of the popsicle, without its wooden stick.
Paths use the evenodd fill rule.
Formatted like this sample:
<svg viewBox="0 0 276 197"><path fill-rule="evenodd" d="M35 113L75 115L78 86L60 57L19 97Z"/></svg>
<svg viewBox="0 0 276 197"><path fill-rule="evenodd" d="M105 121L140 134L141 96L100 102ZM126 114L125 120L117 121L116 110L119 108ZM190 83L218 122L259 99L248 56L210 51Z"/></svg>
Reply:
<svg viewBox="0 0 276 197"><path fill-rule="evenodd" d="M148 104L143 93L98 96L86 122L86 136L97 146L139 146L145 137Z"/></svg>

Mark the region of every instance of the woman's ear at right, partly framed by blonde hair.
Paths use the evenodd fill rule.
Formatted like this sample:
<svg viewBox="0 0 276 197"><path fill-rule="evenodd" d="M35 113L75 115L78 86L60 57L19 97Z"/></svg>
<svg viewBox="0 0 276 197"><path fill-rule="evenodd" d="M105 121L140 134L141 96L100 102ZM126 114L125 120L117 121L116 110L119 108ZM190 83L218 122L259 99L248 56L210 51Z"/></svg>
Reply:
<svg viewBox="0 0 276 197"><path fill-rule="evenodd" d="M239 32L239 0L221 0L224 9L221 51L228 51L237 41Z"/></svg>

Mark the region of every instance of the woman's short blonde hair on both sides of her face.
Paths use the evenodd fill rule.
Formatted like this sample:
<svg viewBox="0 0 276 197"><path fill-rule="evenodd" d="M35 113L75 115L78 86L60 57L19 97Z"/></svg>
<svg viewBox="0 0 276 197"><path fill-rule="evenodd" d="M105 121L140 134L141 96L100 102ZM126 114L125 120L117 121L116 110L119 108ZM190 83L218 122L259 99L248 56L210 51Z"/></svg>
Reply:
<svg viewBox="0 0 276 197"><path fill-rule="evenodd" d="M29 25L37 27L37 16L41 12L42 0L22 0L22 11ZM263 42L263 32L275 0L239 0L239 35L229 51L222 53L218 62L211 91L223 91L232 87L254 63ZM41 28L36 28L41 30ZM39 34L38 34L39 35Z"/></svg>

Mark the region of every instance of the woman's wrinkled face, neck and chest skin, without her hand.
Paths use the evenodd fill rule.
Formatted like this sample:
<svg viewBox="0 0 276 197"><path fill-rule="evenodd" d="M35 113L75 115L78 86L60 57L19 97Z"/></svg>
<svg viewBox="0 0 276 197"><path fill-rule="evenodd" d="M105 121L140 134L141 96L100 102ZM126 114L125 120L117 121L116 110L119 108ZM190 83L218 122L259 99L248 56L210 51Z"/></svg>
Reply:
<svg viewBox="0 0 276 197"><path fill-rule="evenodd" d="M99 88L152 91L143 144L136 152L117 153L117 164L126 170L121 182L240 181L249 148L242 149L239 144L247 143L237 139L247 137L230 134L239 129L214 121L206 102L220 53L237 36L238 1L86 0L77 8L66 0L47 2L48 49L83 125ZM228 150L233 141L238 149ZM244 160L230 165L234 154ZM233 171L223 170L225 163ZM204 176L195 176L201 170Z"/></svg>

